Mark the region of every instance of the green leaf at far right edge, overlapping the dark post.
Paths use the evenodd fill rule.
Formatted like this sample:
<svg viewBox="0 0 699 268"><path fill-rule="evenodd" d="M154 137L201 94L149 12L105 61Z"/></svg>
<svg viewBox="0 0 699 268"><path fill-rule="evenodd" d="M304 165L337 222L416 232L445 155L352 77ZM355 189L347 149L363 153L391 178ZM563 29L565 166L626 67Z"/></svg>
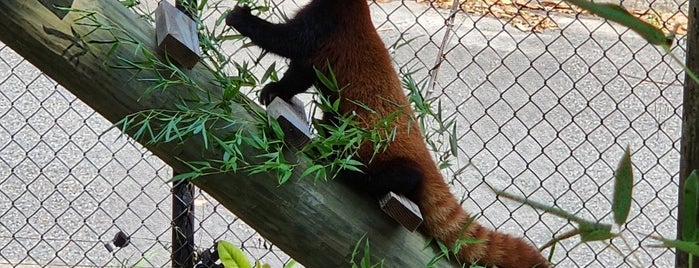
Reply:
<svg viewBox="0 0 699 268"><path fill-rule="evenodd" d="M697 231L697 210L699 209L699 178L697 171L692 171L684 182L684 204L682 205L682 239L699 240Z"/></svg>

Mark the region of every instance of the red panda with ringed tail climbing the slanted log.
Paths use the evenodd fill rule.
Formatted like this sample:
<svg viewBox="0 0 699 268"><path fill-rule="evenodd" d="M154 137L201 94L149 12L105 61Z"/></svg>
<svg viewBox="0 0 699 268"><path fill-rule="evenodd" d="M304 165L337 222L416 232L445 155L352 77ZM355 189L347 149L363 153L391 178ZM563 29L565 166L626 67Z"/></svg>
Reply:
<svg viewBox="0 0 699 268"><path fill-rule="evenodd" d="M253 16L249 7L236 6L226 24L260 48L290 59L283 77L262 89L261 103L269 104L274 97L288 100L315 85L331 101L339 98L339 113L354 114L361 127L371 129L391 114L402 114L392 121L394 140L376 155L373 144L363 144L358 160L366 165L373 194L393 191L418 204L425 234L449 247L460 238L482 241L461 245L456 254L461 262L549 267L533 245L472 221L450 192L418 124L412 122L414 113L371 21L366 0L312 0L285 23L270 23ZM317 79L314 68L328 75L328 66L342 88L339 92Z"/></svg>

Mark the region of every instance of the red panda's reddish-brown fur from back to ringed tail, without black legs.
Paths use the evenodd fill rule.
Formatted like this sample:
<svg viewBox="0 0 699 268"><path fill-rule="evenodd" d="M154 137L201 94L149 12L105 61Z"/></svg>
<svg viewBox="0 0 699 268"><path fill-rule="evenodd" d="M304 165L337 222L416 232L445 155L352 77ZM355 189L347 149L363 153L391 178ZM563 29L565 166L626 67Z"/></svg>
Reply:
<svg viewBox="0 0 699 268"><path fill-rule="evenodd" d="M371 21L366 0L314 0L309 5L313 4L316 4L316 9L319 8L318 5L325 6L323 10L302 9L297 16L304 16L303 12L321 11L335 16L333 31L324 36L325 40L311 53L310 64L326 73L327 66L332 68L338 85L342 87L339 93L339 112L357 114L357 120L366 128L373 128L374 123L395 112L403 115L394 122L397 135L385 151L373 156L374 145L365 144L359 155L360 160L369 168L374 163L400 159L410 163L413 169L419 170L421 180L409 197L418 204L424 217L421 231L449 247L454 245L460 235L482 241L461 245L457 255L462 262L477 262L481 265L504 268L549 267L546 259L530 243L492 231L472 221L450 192L449 186L432 160L418 124L411 122L414 113L393 69L391 57ZM262 37L252 36L254 33L251 29L244 28L245 21L238 20L231 20L229 25L236 27L244 35L249 35L253 42L264 42ZM258 45L275 52L273 48ZM289 58L292 59L293 65L294 58ZM268 93L263 90L263 94ZM371 111L359 107L356 103L370 107ZM368 163L369 159L372 159L371 163Z"/></svg>

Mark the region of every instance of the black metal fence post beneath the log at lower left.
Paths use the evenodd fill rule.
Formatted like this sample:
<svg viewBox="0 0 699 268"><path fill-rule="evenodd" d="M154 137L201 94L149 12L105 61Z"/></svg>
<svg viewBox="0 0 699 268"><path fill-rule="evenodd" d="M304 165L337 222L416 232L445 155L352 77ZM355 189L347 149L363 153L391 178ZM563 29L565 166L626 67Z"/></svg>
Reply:
<svg viewBox="0 0 699 268"><path fill-rule="evenodd" d="M188 180L172 186L172 267L194 265L194 185Z"/></svg>

